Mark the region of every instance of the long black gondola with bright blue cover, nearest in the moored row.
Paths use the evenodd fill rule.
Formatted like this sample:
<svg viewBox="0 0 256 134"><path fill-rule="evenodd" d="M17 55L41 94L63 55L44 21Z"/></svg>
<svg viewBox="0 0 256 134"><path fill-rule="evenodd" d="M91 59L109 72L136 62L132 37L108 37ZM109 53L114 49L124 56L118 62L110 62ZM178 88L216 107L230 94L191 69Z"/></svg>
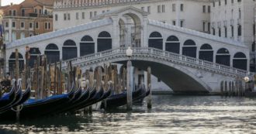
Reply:
<svg viewBox="0 0 256 134"><path fill-rule="evenodd" d="M26 101L26 103L22 105L21 111L19 112L20 119L36 118L47 115L56 110L58 105L65 104L73 98L74 88L67 94L53 95L40 100L29 99L29 101ZM0 119L13 120L15 118L15 111L0 114Z"/></svg>

